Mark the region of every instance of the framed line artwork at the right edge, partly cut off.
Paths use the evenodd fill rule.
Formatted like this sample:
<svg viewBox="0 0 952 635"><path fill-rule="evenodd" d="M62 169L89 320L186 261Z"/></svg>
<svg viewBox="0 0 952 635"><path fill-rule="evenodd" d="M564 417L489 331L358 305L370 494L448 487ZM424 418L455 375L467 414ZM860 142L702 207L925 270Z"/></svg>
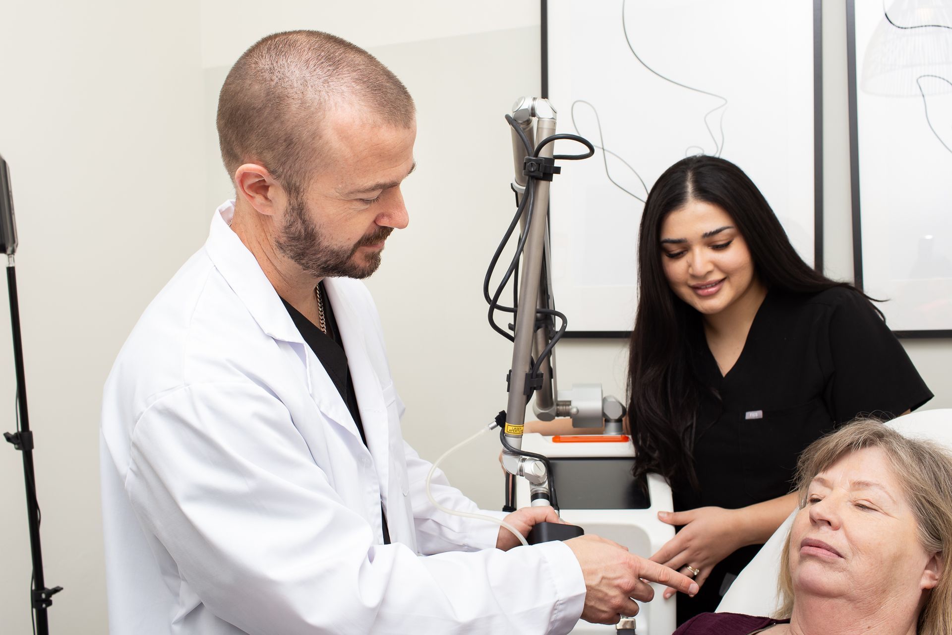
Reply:
<svg viewBox="0 0 952 635"><path fill-rule="evenodd" d="M952 337L952 0L848 0L856 283L901 337Z"/></svg>

